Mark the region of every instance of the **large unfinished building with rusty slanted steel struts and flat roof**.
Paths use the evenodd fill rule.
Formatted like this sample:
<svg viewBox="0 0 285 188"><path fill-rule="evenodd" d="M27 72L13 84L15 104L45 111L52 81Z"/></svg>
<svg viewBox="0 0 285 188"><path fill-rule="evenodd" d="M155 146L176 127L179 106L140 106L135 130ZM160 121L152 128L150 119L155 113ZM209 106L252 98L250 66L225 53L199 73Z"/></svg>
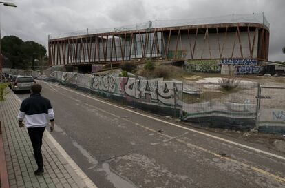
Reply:
<svg viewBox="0 0 285 188"><path fill-rule="evenodd" d="M192 71L257 73L268 61L269 23L264 14L156 20L121 28L49 36L50 65L97 72L126 61L185 61ZM238 69L238 70L237 70Z"/></svg>

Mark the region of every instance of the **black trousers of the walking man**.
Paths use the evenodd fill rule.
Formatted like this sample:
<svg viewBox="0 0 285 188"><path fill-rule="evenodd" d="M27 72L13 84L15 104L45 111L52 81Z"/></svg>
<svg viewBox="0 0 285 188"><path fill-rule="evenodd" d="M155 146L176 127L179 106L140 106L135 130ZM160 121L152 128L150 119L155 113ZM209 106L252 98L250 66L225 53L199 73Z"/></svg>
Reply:
<svg viewBox="0 0 285 188"><path fill-rule="evenodd" d="M32 127L28 128L29 136L34 148L34 158L36 159L36 165L38 169L43 169L43 156L41 154L41 145L43 140L43 132L45 127Z"/></svg>

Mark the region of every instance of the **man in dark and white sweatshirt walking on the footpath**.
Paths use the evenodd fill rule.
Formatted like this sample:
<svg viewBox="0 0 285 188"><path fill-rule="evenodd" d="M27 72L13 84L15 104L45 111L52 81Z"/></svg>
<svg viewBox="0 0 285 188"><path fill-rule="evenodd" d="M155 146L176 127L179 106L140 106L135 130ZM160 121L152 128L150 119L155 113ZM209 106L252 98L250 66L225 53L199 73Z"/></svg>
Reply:
<svg viewBox="0 0 285 188"><path fill-rule="evenodd" d="M50 121L50 131L54 129L54 110L50 100L41 96L41 85L34 84L31 87L29 98L26 98L21 103L20 112L18 114L19 127L23 127L23 119L25 118L25 127L28 128L28 133L34 149L34 158L38 169L34 171L35 175L43 174L43 156L41 154L41 145L43 132Z"/></svg>

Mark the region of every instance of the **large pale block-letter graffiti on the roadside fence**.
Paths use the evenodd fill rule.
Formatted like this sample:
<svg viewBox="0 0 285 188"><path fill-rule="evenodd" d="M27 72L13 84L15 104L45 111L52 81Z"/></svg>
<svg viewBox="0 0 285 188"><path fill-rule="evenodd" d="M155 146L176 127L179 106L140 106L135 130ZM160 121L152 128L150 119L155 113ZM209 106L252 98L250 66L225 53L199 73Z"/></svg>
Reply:
<svg viewBox="0 0 285 188"><path fill-rule="evenodd" d="M91 89L123 96L127 101L173 105L175 83L113 76L92 76Z"/></svg>

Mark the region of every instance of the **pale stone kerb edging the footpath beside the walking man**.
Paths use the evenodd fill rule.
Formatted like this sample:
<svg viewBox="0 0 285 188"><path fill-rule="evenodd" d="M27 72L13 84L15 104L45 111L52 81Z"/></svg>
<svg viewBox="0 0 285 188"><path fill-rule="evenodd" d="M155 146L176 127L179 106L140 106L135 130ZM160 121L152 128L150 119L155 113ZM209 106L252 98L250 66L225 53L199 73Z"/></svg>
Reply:
<svg viewBox="0 0 285 188"><path fill-rule="evenodd" d="M19 103L22 103L19 96L15 95L17 97L17 101ZM46 131L45 135L48 139L50 139L50 142L56 147L56 149L59 151L59 153L65 158L67 163L72 167L72 169L75 171L75 173L85 182L85 185L89 188L98 188L92 180L82 171L80 167L74 162L74 160L65 152L63 147L59 145L59 143L54 139L54 137L50 134L50 132Z"/></svg>

